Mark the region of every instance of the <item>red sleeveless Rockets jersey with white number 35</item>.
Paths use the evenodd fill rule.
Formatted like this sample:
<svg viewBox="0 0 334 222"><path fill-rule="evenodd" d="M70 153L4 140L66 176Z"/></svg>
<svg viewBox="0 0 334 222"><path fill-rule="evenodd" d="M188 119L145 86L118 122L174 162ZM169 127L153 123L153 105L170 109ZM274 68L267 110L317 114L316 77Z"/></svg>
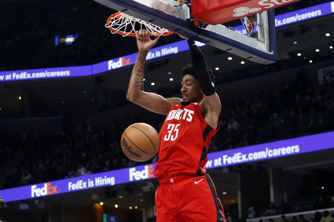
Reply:
<svg viewBox="0 0 334 222"><path fill-rule="evenodd" d="M154 176L166 179L186 173L205 174L212 129L204 120L198 103L173 105L159 132L159 161Z"/></svg>

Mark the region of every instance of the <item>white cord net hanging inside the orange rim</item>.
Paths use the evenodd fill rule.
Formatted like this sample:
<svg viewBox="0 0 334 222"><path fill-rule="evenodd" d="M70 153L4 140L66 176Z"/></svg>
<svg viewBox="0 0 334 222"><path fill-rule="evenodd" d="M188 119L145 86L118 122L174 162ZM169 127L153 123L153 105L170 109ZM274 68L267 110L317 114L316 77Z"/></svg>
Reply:
<svg viewBox="0 0 334 222"><path fill-rule="evenodd" d="M140 30L142 30L143 26L145 26L149 33L152 33L154 36L157 35L163 35L165 33L169 33L170 31L168 29L164 29L161 28L159 26L153 25L149 22L143 21L141 19L135 18L131 15L125 14L123 12L119 12L120 14L118 16L120 16L119 18L114 18L112 19L109 24L106 24L107 28L114 28L117 31L122 31L124 32L123 37L129 35L130 33L136 33L135 30L135 23L138 22L140 23ZM117 16L117 17L118 17ZM131 31L126 30L127 26L131 25L132 29ZM111 31L111 33L115 34L116 32ZM138 37L138 35L136 34L136 36Z"/></svg>

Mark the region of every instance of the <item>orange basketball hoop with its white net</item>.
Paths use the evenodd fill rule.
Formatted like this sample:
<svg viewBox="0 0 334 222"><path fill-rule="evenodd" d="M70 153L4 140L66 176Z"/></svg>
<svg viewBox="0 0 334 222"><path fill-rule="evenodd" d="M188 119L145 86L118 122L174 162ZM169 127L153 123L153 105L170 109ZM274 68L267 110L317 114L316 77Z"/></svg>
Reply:
<svg viewBox="0 0 334 222"><path fill-rule="evenodd" d="M140 30L145 28L149 31L148 36L158 36L158 35L166 36L173 33L172 31L153 25L149 22L135 18L123 12L116 12L115 14L112 14L107 19L106 27L109 28L111 30L111 33L113 34L117 33L119 35L122 35L123 37L124 36L136 37L137 36L135 30L136 22L140 24ZM132 27L131 30L126 30L128 25Z"/></svg>

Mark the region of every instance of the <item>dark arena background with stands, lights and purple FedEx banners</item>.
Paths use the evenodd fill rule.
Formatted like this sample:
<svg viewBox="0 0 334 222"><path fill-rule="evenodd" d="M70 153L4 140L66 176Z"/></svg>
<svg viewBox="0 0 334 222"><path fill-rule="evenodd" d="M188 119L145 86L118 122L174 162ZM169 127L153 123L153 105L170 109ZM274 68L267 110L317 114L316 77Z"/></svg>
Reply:
<svg viewBox="0 0 334 222"><path fill-rule="evenodd" d="M156 221L159 157L131 161L120 138L137 122L159 132L165 116L126 99L138 48L104 26L115 12L93 0L0 1L1 221ZM222 104L205 168L228 222L331 222L334 1L276 8L275 24L269 65L198 43ZM187 47L161 37L145 91L180 98Z"/></svg>

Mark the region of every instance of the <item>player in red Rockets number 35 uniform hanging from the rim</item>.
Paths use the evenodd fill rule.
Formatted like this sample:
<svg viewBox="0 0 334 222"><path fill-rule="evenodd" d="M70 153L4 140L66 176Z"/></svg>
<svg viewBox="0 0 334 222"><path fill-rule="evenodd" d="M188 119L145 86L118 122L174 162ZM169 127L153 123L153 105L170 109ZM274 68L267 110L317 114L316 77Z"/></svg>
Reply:
<svg viewBox="0 0 334 222"><path fill-rule="evenodd" d="M159 40L147 30L136 32L139 54L127 99L152 112L167 115L160 130L159 161L154 175L160 186L155 203L158 222L226 222L215 187L206 174L207 149L219 130L220 100L212 71L193 40L188 39L192 66L182 69L182 99L144 92L144 65L148 50Z"/></svg>

